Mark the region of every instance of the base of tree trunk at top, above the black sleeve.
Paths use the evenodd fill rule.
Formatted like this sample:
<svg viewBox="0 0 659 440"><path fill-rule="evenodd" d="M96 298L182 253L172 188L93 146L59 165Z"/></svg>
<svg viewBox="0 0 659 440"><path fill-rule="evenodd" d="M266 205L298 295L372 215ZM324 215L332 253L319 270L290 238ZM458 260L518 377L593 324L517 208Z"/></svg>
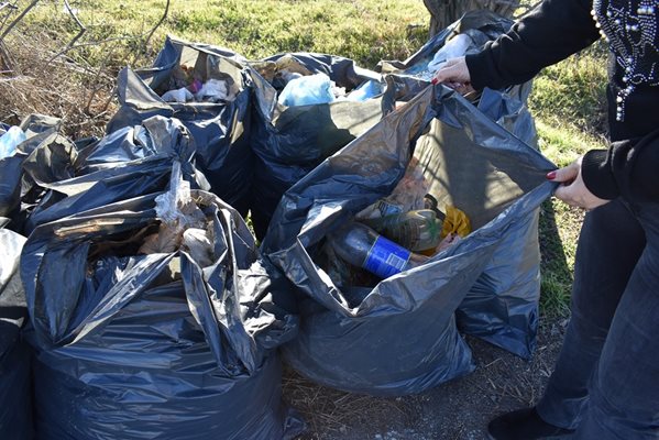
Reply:
<svg viewBox="0 0 659 440"><path fill-rule="evenodd" d="M424 0L430 12L430 36L446 29L462 14L476 9L488 9L503 16L513 16L520 0Z"/></svg>

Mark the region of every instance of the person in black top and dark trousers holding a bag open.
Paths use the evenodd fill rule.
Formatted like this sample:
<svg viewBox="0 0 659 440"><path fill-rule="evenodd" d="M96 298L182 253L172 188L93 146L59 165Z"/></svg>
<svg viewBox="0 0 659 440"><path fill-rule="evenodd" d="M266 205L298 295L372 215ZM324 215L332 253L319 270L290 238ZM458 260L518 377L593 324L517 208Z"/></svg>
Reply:
<svg viewBox="0 0 659 440"><path fill-rule="evenodd" d="M609 147L547 175L557 198L587 210L561 353L542 398L492 420L491 439L659 439L658 16L658 0L545 0L433 78L502 88L601 36L611 50Z"/></svg>

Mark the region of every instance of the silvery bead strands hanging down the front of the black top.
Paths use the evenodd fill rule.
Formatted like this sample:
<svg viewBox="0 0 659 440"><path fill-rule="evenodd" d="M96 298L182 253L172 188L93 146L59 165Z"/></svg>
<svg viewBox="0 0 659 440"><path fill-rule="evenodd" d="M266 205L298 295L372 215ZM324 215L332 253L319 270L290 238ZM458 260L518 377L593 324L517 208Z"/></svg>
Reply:
<svg viewBox="0 0 659 440"><path fill-rule="evenodd" d="M659 0L593 1L591 14L623 69L616 97L616 120L625 120L625 100L641 84L659 85L657 12Z"/></svg>

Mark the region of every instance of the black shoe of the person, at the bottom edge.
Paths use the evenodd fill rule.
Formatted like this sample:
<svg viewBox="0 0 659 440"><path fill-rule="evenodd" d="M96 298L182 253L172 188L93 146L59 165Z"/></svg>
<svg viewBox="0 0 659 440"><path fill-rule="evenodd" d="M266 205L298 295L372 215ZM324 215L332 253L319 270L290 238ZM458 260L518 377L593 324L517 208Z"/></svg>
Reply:
<svg viewBox="0 0 659 440"><path fill-rule="evenodd" d="M542 420L535 407L506 413L487 425L490 440L547 439L572 432L573 429L559 428Z"/></svg>

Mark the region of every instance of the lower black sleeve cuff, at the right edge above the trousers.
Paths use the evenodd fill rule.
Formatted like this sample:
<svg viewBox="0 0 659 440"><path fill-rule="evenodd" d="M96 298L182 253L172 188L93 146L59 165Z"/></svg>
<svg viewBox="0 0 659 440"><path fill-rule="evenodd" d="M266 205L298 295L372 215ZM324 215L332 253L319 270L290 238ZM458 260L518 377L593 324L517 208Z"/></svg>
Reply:
<svg viewBox="0 0 659 440"><path fill-rule="evenodd" d="M659 201L659 130L640 139L614 142L608 150L587 152L581 174L586 188L602 199L624 196Z"/></svg>

